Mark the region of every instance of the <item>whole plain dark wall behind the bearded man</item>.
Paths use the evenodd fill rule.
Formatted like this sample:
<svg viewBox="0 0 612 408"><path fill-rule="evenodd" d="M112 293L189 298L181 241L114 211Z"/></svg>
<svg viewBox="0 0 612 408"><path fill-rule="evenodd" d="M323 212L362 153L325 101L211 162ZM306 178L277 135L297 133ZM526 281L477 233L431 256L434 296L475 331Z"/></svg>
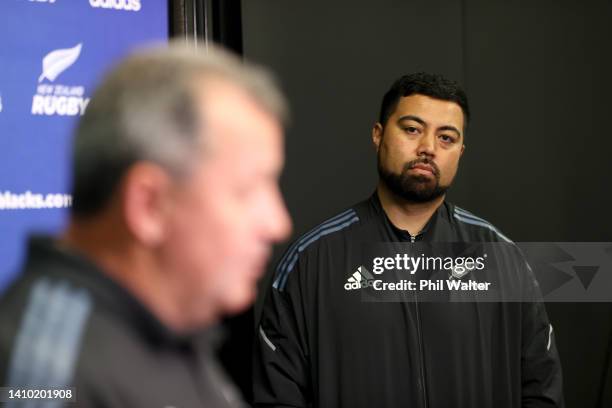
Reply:
<svg viewBox="0 0 612 408"><path fill-rule="evenodd" d="M294 236L374 190L380 98L425 70L463 83L473 112L451 201L515 241L611 241L611 16L609 1L243 1L244 54L293 110ZM612 307L547 308L567 406L612 406Z"/></svg>

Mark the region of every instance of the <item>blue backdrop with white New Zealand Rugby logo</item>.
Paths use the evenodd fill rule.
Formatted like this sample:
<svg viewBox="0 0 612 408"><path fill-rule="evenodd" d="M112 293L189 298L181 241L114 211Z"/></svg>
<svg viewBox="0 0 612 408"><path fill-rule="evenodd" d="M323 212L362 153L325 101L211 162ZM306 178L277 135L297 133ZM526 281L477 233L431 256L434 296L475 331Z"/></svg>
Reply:
<svg viewBox="0 0 612 408"><path fill-rule="evenodd" d="M27 236L66 220L71 132L101 74L168 31L167 0L0 3L0 291Z"/></svg>

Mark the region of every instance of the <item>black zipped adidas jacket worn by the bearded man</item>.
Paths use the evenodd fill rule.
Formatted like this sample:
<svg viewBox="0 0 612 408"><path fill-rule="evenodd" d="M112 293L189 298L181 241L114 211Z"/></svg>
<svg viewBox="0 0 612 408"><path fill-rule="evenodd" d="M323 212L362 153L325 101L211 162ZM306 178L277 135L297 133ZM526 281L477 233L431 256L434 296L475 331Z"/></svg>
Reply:
<svg viewBox="0 0 612 408"><path fill-rule="evenodd" d="M346 290L360 243L392 241L507 238L447 202L411 237L376 194L302 236L278 264L257 328L256 406L564 406L540 301L376 303L360 295L372 288Z"/></svg>

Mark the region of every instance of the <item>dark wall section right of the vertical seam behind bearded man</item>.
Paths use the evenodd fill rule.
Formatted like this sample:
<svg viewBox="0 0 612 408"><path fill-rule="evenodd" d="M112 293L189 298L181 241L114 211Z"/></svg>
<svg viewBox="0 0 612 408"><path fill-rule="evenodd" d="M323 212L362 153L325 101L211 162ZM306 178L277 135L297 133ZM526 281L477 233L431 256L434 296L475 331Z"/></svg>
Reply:
<svg viewBox="0 0 612 408"><path fill-rule="evenodd" d="M475 119L456 200L516 241L611 241L612 3L469 0L466 9ZM568 406L612 406L612 385L601 397L611 306L547 309Z"/></svg>

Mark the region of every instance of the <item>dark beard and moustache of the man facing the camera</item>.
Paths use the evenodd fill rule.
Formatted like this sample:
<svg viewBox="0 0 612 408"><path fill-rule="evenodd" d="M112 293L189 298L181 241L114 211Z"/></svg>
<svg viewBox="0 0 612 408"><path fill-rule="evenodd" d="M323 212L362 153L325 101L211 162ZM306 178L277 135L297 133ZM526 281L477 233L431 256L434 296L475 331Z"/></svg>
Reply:
<svg viewBox="0 0 612 408"><path fill-rule="evenodd" d="M409 174L416 164L427 164L433 169L433 177L420 174ZM378 156L378 175L389 190L400 198L414 203L426 203L440 197L450 185L440 185L440 169L432 160L418 158L404 165L401 174L386 169Z"/></svg>

